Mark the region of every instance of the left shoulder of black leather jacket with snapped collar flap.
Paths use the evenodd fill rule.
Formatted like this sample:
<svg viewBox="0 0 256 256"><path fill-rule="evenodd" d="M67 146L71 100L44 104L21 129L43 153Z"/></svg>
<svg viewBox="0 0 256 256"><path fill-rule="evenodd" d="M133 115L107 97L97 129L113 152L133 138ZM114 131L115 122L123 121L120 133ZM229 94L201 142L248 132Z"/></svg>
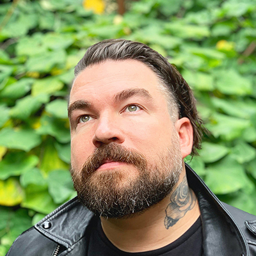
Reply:
<svg viewBox="0 0 256 256"><path fill-rule="evenodd" d="M93 213L74 198L23 232L6 256L48 256L54 255L56 250L72 248L78 241L84 240L92 219Z"/></svg>

